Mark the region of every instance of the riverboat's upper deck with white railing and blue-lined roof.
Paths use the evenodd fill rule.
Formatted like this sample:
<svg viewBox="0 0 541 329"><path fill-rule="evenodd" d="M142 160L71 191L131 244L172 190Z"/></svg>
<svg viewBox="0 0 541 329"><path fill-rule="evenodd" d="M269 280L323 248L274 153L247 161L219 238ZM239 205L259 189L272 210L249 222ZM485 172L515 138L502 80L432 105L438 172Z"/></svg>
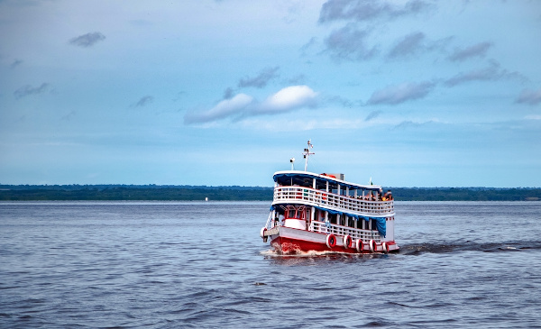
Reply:
<svg viewBox="0 0 541 329"><path fill-rule="evenodd" d="M355 216L394 215L392 199L382 197L381 187L361 185L324 174L300 170L274 174L272 205L298 204Z"/></svg>

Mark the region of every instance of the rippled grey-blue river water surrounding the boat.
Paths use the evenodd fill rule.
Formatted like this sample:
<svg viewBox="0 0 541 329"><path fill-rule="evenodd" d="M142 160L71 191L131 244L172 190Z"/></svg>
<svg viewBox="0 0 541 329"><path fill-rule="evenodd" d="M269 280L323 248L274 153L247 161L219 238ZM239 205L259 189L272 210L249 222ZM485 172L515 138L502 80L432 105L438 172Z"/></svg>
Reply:
<svg viewBox="0 0 541 329"><path fill-rule="evenodd" d="M278 257L259 202L0 203L0 327L541 327L541 203L397 203L399 254Z"/></svg>

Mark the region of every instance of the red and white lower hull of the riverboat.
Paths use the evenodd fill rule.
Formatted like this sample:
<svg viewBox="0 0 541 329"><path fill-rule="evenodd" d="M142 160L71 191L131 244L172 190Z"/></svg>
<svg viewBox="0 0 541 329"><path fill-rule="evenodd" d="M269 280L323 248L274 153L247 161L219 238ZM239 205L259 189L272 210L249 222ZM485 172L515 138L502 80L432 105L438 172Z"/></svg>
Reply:
<svg viewBox="0 0 541 329"><path fill-rule="evenodd" d="M356 242L349 246L344 244L344 236L336 235L335 242L329 243L329 234L316 233L295 228L276 226L264 233L271 238L271 247L280 254L299 254L303 252L342 252L342 253L373 253L398 252L399 246L394 241L385 242ZM362 244L362 247L359 244ZM359 250L357 249L358 247Z"/></svg>

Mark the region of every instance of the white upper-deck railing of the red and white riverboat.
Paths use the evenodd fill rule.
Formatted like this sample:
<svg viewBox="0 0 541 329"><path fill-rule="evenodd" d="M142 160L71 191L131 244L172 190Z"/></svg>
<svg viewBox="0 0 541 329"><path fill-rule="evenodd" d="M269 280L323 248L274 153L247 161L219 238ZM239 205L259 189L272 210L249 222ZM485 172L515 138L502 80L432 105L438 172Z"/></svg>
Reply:
<svg viewBox="0 0 541 329"><path fill-rule="evenodd" d="M355 215L392 215L394 203L390 201L372 201L362 196L343 196L310 187L274 187L273 202L288 202L320 206Z"/></svg>

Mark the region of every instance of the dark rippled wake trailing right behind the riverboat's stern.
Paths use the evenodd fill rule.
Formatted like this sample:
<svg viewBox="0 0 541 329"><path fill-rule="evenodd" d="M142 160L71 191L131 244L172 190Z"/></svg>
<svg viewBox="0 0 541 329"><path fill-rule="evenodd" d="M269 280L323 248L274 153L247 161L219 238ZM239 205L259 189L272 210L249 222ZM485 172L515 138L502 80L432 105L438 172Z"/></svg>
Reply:
<svg viewBox="0 0 541 329"><path fill-rule="evenodd" d="M429 253L445 253L455 251L481 251L481 252L505 252L525 251L529 249L541 249L541 242L445 242L445 243L422 243L407 244L400 246L402 255L420 255Z"/></svg>

